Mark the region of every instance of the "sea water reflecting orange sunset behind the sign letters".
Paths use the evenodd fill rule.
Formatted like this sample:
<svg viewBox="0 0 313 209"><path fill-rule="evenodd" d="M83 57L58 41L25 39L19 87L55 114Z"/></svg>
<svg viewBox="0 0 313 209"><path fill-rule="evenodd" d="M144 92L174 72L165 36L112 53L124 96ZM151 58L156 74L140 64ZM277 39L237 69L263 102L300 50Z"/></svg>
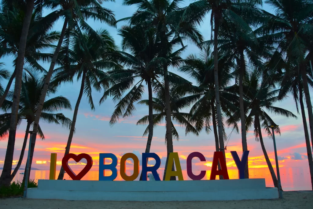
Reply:
<svg viewBox="0 0 313 209"><path fill-rule="evenodd" d="M275 170L275 168L274 168ZM160 178L162 180L163 178L163 171L159 169L158 173L160 174ZM0 170L1 174L2 170ZM74 171L76 174L79 173L79 171ZM127 175L132 175L133 171L126 171ZM195 175L198 175L200 171L194 170L193 173ZM207 170L205 177L203 178L206 180L210 179L211 171ZM59 171L57 171L56 176L59 175ZM105 171L105 175L111 175L111 171ZM188 175L187 171L183 170L182 175L184 177L184 180L191 180ZM238 170L236 169L229 169L228 175L230 179L238 179ZM284 191L291 191L291 190L311 190L311 182L310 182L310 173L308 167L282 167L280 168L280 178L281 183ZM250 178L264 178L266 186L274 186L273 181L271 178L271 175L269 173L268 168L250 168L249 169L249 177ZM38 179L49 179L49 170L32 170L30 172L30 179L35 179L36 182L38 182ZM65 173L64 179L70 180L68 174ZM83 178L82 180L98 180L99 179L99 171L98 170L90 170ZM219 179L218 176L216 179ZM13 181L22 181L23 180L23 174L17 174ZM115 180L122 181L122 177L120 175L120 172L118 171L117 178ZM139 180L139 176L136 180Z"/></svg>

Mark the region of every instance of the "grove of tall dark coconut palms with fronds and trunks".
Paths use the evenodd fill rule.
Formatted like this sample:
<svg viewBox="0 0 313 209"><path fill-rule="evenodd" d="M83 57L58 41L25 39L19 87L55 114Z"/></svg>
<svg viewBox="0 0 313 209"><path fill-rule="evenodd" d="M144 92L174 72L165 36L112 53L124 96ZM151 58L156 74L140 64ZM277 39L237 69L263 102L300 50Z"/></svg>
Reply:
<svg viewBox="0 0 313 209"><path fill-rule="evenodd" d="M85 95L95 110L95 90L103 95L100 104L109 98L116 102L110 125L131 117L136 104L148 106L146 116L137 123L146 126L145 152L150 152L153 129L165 121L167 158L174 152L173 139L179 140L173 121L184 127L186 134L196 136L203 129L211 134L212 128L216 151L223 152L224 158L228 138L225 128L241 134L243 150L248 150L247 133L253 129L276 187L277 177L262 129L271 138L267 126L275 125L272 114L297 118L277 107L278 102L292 96L298 114L300 103L313 189L311 0L198 0L186 7L180 7L182 0L123 0L124 6L136 6L136 11L117 21L114 13L103 7L105 2L1 0L0 59L13 57L14 71L6 70L0 62L0 108L4 112L0 115L0 136L8 138L0 186L12 190L21 187L20 183L10 184L15 134L21 120L27 119L27 130L33 124L33 133L41 138L40 119L68 127L68 154L81 99ZM263 3L270 5L274 13L263 10ZM51 13L43 17L47 9ZM91 28L87 24L90 18L113 27L123 22L118 29L121 48L106 29ZM210 26L203 25L205 19L209 19ZM60 32L52 30L57 20L63 21ZM200 27L211 27L211 39L204 39ZM198 47L198 54L183 56L187 41ZM46 53L49 50L53 53ZM48 71L42 63L50 64ZM70 108L66 98L46 97L75 78L81 85L71 121L62 113L54 113ZM28 89L32 82L36 83L35 90ZM32 97L34 91L38 91L36 97ZM146 91L148 98L143 98ZM280 129L275 132L280 133ZM30 166L37 134L32 134ZM166 169L163 178L165 174ZM58 179L63 176L61 168ZM248 163L245 178L249 178Z"/></svg>

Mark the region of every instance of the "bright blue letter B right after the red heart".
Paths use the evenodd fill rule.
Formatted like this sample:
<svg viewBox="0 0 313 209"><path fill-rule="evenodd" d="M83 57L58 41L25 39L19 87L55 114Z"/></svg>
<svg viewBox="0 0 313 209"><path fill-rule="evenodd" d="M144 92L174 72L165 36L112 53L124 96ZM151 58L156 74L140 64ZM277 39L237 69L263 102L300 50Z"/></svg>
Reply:
<svg viewBox="0 0 313 209"><path fill-rule="evenodd" d="M111 158L112 163L104 165L104 159ZM99 154L99 181L113 181L117 177L117 157L112 153L100 153ZM104 170L111 170L112 175L104 176Z"/></svg>

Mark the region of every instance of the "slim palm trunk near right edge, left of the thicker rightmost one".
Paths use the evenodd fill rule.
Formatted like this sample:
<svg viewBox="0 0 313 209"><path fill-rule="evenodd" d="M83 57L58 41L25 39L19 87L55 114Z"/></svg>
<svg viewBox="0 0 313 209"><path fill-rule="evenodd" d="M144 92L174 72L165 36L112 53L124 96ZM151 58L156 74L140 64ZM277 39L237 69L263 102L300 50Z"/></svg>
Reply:
<svg viewBox="0 0 313 209"><path fill-rule="evenodd" d="M312 190L313 190L313 158L312 158L312 151L311 151L311 145L310 145L308 126L306 123L305 111L304 111L304 105L303 105L302 86L301 86L300 82L299 82L299 93L300 93L299 102L300 102L300 107L301 107L302 122L303 122L303 128L304 128L306 152L308 155L309 169L310 169L310 175L311 175L311 185L312 185Z"/></svg>

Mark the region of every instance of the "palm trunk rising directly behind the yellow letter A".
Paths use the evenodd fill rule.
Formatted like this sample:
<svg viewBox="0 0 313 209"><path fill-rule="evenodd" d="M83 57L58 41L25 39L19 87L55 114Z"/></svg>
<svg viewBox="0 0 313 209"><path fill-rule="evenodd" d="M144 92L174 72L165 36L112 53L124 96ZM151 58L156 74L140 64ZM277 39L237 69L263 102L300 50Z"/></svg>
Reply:
<svg viewBox="0 0 313 209"><path fill-rule="evenodd" d="M167 139L167 158L165 162L163 181L165 180L168 157L171 152L174 152L173 148L173 138L172 138L172 117L171 117L171 103L170 103L170 88L169 82L167 78L167 65L163 66L164 70L164 86L165 86L165 116L166 116L166 139ZM174 164L172 166L172 170L174 170ZM176 180L175 176L171 176L170 180Z"/></svg>

